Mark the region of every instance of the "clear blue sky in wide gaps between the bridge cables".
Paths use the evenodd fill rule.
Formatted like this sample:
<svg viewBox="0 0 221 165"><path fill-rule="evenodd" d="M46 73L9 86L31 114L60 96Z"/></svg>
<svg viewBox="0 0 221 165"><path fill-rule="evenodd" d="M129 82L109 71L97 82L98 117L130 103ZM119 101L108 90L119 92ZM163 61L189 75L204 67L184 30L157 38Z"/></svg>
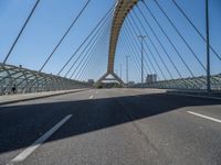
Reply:
<svg viewBox="0 0 221 165"><path fill-rule="evenodd" d="M146 0L147 1L147 0ZM221 54L221 1L220 0L209 0L210 1L210 33L211 33L211 44ZM0 61L2 62L9 51L14 37L18 35L23 22L25 21L31 8L33 7L35 0L0 0ZM39 7L33 14L30 23L28 24L24 33L22 34L18 45L15 46L13 53L11 54L8 64L12 65L23 65L25 68L31 68L38 70L45 58L49 56L54 45L57 43L64 31L67 29L72 20L76 16L78 11L82 9L86 0L41 0ZM204 75L203 70L196 63L194 58L190 55L187 47L183 45L182 41L177 36L172 28L169 25L167 20L157 9L152 0L147 1L149 8L156 14L156 16L162 23L168 34L171 36L176 46L179 48L188 64L191 66L196 75ZM204 0L177 0L177 2L182 7L186 13L194 22L194 24L204 34ZM81 42L90 33L90 31L95 26L98 20L107 12L107 10L115 3L115 0L92 0L86 12L77 21L76 25L73 28L69 36L65 38L63 44L60 46L57 52L54 54L53 58L50 61L44 72L56 74L71 54L77 48ZM188 25L187 21L181 16L179 11L175 8L170 0L159 0L159 3L168 12L170 18L175 21L178 29L181 31L183 36L187 38L189 44L194 47L196 53L206 63L206 51L204 44ZM143 11L145 9L139 4ZM136 9L135 9L136 10ZM136 10L137 11L137 10ZM147 13L147 12L146 12ZM160 40L165 43L168 52L173 56L173 61L180 66L180 70L183 77L188 77L188 73L182 68L182 64L176 57L173 50L166 42L160 30L157 28L156 23L151 16L147 15L149 22L159 34ZM144 20L143 20L144 21ZM148 28L147 28L148 30ZM152 36L149 31L149 35ZM154 36L152 36L154 38ZM108 55L108 40L106 38L106 47L101 51L97 55L96 61L91 65L91 69L87 73L87 78L97 79L102 74L106 72L107 55ZM124 37L119 37L120 41ZM160 50L157 42L156 46L159 48L160 54L164 56L164 52ZM118 52L118 51L117 51ZM119 70L119 64L123 65L123 76L125 79L125 55L128 54L127 46L123 46L120 53L116 54L116 70ZM221 73L221 63L211 54L212 59L212 73ZM164 57L167 62L166 57ZM168 63L168 66L170 64ZM136 79L137 73L134 70L134 64L130 62L130 79ZM171 69L176 75L175 70ZM119 72L118 72L119 73Z"/></svg>

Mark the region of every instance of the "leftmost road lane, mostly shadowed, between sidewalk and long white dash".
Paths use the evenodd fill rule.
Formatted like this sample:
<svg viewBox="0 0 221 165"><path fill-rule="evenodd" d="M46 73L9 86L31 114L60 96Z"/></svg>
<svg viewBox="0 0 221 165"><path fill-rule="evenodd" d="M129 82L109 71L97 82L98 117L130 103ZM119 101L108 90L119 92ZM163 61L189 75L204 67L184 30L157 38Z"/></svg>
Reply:
<svg viewBox="0 0 221 165"><path fill-rule="evenodd" d="M0 164L12 160L70 111L81 109L81 101L88 97L82 91L1 107Z"/></svg>

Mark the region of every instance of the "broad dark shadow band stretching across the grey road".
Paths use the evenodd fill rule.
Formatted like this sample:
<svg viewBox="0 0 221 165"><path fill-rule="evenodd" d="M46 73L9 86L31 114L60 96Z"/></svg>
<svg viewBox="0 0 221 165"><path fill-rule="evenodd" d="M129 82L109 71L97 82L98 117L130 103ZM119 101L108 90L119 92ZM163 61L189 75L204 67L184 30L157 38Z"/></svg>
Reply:
<svg viewBox="0 0 221 165"><path fill-rule="evenodd" d="M32 144L67 114L73 117L45 143L180 110L183 107L212 105L221 105L221 101L149 94L1 107L0 160L2 153L25 148Z"/></svg>

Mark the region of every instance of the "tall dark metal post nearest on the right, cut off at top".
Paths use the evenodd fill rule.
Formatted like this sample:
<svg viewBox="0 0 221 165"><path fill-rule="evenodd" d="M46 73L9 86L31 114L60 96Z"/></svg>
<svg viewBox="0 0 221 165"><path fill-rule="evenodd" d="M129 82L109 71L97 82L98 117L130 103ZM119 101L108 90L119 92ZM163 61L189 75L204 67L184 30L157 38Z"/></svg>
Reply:
<svg viewBox="0 0 221 165"><path fill-rule="evenodd" d="M209 1L206 0L206 33L207 33L207 91L210 94L210 29L209 29Z"/></svg>

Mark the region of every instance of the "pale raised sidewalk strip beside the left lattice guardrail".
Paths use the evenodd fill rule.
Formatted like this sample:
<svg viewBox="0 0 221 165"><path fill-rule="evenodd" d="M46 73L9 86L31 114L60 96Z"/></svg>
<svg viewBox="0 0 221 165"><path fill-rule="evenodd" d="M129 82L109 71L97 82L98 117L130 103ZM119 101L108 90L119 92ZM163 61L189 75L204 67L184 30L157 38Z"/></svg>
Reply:
<svg viewBox="0 0 221 165"><path fill-rule="evenodd" d="M21 101L29 101L29 100L34 100L34 99L42 99L42 98L48 98L48 97L53 97L53 96L59 96L59 95L80 92L80 91L84 91L84 90L88 90L88 89L90 88L82 88L82 89L72 89L72 90L0 96L0 106L21 102Z"/></svg>

